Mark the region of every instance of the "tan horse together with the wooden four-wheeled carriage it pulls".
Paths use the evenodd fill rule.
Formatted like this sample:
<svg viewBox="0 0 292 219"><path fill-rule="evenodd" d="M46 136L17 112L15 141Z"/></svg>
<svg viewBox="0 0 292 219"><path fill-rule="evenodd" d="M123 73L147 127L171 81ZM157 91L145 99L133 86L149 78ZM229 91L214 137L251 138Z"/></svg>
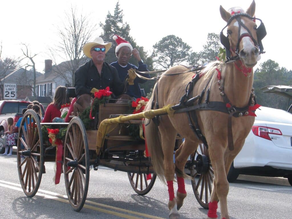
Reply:
<svg viewBox="0 0 292 219"><path fill-rule="evenodd" d="M261 41L266 30L261 20L254 17L254 1L246 12L238 7L226 11L220 6L220 14L227 22L220 33L220 41L225 47L225 53L219 55L221 61L211 62L202 69L190 70L182 65L171 67L157 80L145 112L135 114L137 117L129 116L131 119L123 115L112 118L126 126L140 124L141 118L146 118L145 137L151 163L144 155L143 141L129 138L120 128L106 131L108 129L103 127L109 121L105 118L127 114L124 108L128 107L127 104L100 105L98 130L85 130L79 117L74 117L69 124L50 124L54 128L67 126L62 161L66 191L74 210L79 211L84 205L90 166L96 169L102 165L127 172L133 189L141 195L150 191L156 174L166 180L169 217L180 218L178 210L187 195L183 179L187 168L197 200L201 206L209 208L208 219L218 217L218 200L221 218L230 218L226 175L243 147L254 122L255 110L259 107L252 87L252 68L264 53ZM228 36L223 34L225 28ZM161 115L160 119L155 118L157 115ZM43 141L42 125L37 115L28 110L18 137L19 178L28 197L33 197L39 188L44 161L53 160L51 154L45 153L48 145ZM180 145L182 137L185 141ZM24 152L20 151L20 141L25 145ZM174 163L175 144L178 149ZM197 150L198 145L202 153ZM23 161L20 154L26 156ZM190 154L191 159L187 160ZM152 178L148 183L149 174ZM173 188L175 174L178 183L176 196Z"/></svg>

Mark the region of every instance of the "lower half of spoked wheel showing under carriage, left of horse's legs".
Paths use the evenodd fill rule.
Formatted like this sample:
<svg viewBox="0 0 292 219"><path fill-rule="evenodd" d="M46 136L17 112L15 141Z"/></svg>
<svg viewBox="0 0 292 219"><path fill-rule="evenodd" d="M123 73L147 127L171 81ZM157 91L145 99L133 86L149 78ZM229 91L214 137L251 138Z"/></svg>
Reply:
<svg viewBox="0 0 292 219"><path fill-rule="evenodd" d="M133 190L139 195L146 195L152 189L155 180L155 173L128 173L128 178ZM147 179L148 178L148 179Z"/></svg>

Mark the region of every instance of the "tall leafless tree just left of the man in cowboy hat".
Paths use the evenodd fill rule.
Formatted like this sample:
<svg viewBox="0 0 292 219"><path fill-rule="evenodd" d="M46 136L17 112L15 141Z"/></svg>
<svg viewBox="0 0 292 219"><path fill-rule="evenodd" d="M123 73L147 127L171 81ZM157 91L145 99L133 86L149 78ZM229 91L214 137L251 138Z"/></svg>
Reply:
<svg viewBox="0 0 292 219"><path fill-rule="evenodd" d="M88 15L79 14L76 7L71 5L70 11L65 12L65 21L57 26L59 43L49 48L54 63L53 71L60 75L67 84L74 86L74 73L86 62L82 52L83 45L92 38L96 25L91 25ZM63 60L57 64L57 60Z"/></svg>

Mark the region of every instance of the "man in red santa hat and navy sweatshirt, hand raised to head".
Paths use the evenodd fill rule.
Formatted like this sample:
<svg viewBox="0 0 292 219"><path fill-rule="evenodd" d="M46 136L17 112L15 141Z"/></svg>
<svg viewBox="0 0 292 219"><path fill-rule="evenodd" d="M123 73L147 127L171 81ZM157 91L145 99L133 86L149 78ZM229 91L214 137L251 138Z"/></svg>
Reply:
<svg viewBox="0 0 292 219"><path fill-rule="evenodd" d="M117 42L116 56L118 60L117 62L113 62L111 65L117 69L119 73L119 77L122 81L125 80L126 76L128 75L128 70L130 68L136 69L139 72L149 72L149 70L147 69L147 65L143 63L137 49L135 48L133 49L133 47L128 41L122 39L118 35L114 35L113 39ZM138 60L138 67L129 63L129 60L132 54ZM150 78L150 74L140 74L140 75L142 75L143 77ZM139 83L142 84L142 83L145 83L146 81L147 80L136 77L134 80L134 84L127 86L126 94L134 98L140 98L141 89L140 89Z"/></svg>

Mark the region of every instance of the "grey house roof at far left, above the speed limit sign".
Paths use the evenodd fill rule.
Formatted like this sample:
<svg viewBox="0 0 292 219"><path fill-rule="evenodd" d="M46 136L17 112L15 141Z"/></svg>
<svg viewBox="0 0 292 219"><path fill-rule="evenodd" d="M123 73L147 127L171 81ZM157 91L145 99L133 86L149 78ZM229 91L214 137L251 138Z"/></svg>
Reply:
<svg viewBox="0 0 292 219"><path fill-rule="evenodd" d="M36 72L36 77L41 75L40 72ZM1 78L2 83L16 83L18 85L32 85L34 73L24 68L18 68L14 70L8 70L7 75Z"/></svg>

